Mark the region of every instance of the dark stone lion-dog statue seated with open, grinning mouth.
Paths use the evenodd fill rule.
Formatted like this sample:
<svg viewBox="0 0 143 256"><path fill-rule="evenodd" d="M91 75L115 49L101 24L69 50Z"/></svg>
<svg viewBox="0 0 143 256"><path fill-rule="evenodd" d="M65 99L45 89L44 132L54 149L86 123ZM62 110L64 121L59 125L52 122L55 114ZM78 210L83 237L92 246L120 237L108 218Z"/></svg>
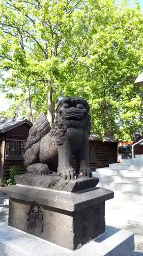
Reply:
<svg viewBox="0 0 143 256"><path fill-rule="evenodd" d="M48 175L57 172L66 179L79 174L92 177L89 167L91 119L88 102L80 97L60 101L50 129L44 113L31 127L25 145L24 164L28 173ZM75 155L76 168L71 166Z"/></svg>

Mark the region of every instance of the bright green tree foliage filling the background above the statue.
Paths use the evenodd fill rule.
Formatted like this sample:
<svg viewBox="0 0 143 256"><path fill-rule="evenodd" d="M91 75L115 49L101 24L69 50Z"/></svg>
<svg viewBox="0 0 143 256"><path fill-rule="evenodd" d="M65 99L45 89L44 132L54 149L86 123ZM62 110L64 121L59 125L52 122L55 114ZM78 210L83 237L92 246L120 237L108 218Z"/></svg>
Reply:
<svg viewBox="0 0 143 256"><path fill-rule="evenodd" d="M133 85L143 56L138 5L1 0L0 14L1 88L23 114L33 120L43 110L52 123L60 97L83 96L91 106L93 132L131 140L143 111L142 88Z"/></svg>

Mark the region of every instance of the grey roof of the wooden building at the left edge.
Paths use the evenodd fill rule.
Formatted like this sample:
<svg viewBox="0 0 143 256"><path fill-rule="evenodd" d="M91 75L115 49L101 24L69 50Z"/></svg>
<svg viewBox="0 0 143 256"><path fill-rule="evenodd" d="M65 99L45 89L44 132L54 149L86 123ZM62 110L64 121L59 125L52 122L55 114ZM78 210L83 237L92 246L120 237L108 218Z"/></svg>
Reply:
<svg viewBox="0 0 143 256"><path fill-rule="evenodd" d="M21 124L28 124L30 127L33 125L32 122L28 121L27 119L22 118L0 118L0 133L6 133L9 130L21 125Z"/></svg>

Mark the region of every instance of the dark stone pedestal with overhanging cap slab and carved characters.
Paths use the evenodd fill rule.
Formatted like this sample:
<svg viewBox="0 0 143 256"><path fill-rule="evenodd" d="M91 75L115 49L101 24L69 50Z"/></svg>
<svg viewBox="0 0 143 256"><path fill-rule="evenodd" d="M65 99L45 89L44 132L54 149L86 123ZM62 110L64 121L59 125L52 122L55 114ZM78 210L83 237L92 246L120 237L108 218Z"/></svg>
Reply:
<svg viewBox="0 0 143 256"><path fill-rule="evenodd" d="M90 187L96 178L80 189L83 180L69 182L71 190L79 188L72 193L21 184L3 188L9 196L9 226L71 250L80 248L104 233L105 201L113 198L110 190Z"/></svg>

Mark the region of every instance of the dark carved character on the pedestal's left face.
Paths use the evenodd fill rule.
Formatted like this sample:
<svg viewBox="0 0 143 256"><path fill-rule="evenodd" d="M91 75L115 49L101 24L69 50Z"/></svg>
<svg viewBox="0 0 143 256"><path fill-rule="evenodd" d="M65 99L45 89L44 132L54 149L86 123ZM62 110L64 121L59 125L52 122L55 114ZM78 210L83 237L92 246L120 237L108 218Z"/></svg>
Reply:
<svg viewBox="0 0 143 256"><path fill-rule="evenodd" d="M41 232L43 232L43 211L40 206L31 205L30 210L27 213L27 217L28 230L37 228L40 224Z"/></svg>

